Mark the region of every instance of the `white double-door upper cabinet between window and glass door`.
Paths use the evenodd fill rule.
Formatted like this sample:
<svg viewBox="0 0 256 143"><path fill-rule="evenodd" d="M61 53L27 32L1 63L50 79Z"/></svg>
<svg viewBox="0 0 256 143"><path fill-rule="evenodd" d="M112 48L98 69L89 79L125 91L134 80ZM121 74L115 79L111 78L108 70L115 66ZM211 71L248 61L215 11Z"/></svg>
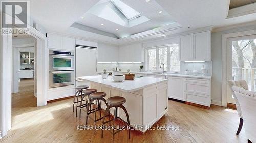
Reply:
<svg viewBox="0 0 256 143"><path fill-rule="evenodd" d="M180 61L210 61L210 31L181 36Z"/></svg>

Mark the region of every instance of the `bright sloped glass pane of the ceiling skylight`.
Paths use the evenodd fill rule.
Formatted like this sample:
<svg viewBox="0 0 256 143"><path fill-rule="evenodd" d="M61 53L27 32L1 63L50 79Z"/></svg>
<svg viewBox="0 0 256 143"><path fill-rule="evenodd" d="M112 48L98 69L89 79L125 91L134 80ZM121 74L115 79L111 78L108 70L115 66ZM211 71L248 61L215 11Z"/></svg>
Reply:
<svg viewBox="0 0 256 143"><path fill-rule="evenodd" d="M141 16L139 12L126 5L120 0L111 0L111 2L116 6L116 8L123 14L128 20Z"/></svg>

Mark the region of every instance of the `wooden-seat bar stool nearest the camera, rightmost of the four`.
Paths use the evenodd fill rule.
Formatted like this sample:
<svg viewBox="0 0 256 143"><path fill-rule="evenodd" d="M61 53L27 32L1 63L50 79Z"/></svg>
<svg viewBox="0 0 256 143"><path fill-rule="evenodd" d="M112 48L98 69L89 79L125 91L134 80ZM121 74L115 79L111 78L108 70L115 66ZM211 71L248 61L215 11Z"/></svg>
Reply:
<svg viewBox="0 0 256 143"><path fill-rule="evenodd" d="M102 121L102 124L105 124L105 123L110 123L110 121L113 121L113 127L115 125L115 119L121 119L119 116L118 116L118 107L123 109L123 111L125 112L126 114L126 118L127 118L127 122L125 122L124 120L122 120L123 122L125 122L127 124L127 129L128 129L128 126L130 127L130 120L129 120L129 115L128 115L128 112L127 110L125 109L125 107L123 106L123 104L126 102L126 99L124 97L121 97L121 96L113 96L113 97L110 97L106 100L106 103L109 104L109 106L106 108L105 110L105 113L104 113L104 116L103 116L103 121ZM107 112L110 112L110 109L111 108L115 108L114 109L114 118L112 120L109 120L109 121L105 121L105 117L107 116L106 113ZM114 128L113 128L113 132L111 132L112 134L112 139L114 141L114 135L117 134L118 132L120 132L122 130L118 130L116 132L114 132ZM130 129L128 129L129 131L129 139L130 139ZM101 138L103 137L103 130L101 130Z"/></svg>

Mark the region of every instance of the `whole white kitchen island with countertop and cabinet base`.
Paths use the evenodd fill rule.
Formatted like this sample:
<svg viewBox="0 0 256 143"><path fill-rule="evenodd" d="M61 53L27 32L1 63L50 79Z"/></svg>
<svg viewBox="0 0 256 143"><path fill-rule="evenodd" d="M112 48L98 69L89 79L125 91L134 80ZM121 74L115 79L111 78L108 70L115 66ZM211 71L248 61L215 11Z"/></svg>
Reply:
<svg viewBox="0 0 256 143"><path fill-rule="evenodd" d="M154 77L139 77L133 81L115 82L111 76L102 79L101 76L84 76L79 79L89 81L91 88L105 92L108 99L112 96L122 96L126 99L123 106L129 113L130 124L136 130L145 132L167 112L168 79ZM101 104L101 108L106 106ZM112 108L111 113L114 114ZM119 109L119 117L126 120L125 113Z"/></svg>

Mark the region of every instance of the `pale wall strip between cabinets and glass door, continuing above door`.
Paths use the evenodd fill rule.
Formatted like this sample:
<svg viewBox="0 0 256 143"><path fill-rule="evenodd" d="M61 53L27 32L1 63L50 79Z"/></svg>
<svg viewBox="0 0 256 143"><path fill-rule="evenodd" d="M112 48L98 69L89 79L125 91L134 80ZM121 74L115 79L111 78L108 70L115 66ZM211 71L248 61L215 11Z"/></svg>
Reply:
<svg viewBox="0 0 256 143"><path fill-rule="evenodd" d="M221 32L211 33L211 57L212 57L212 100L221 103L221 50L222 50L222 35L234 32L255 30L256 25L235 28Z"/></svg>

